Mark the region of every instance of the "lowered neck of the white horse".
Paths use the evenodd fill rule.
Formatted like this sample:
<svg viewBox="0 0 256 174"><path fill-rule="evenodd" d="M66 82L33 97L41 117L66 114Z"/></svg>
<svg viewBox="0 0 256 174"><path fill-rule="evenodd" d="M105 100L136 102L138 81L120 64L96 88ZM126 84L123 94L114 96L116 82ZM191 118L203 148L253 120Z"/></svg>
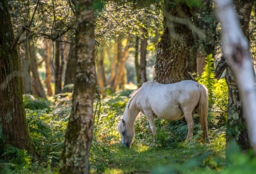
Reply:
<svg viewBox="0 0 256 174"><path fill-rule="evenodd" d="M136 102L134 100L131 101L130 105L126 105L123 119L125 120L128 129L134 130L134 122L139 112L140 110L136 107Z"/></svg>

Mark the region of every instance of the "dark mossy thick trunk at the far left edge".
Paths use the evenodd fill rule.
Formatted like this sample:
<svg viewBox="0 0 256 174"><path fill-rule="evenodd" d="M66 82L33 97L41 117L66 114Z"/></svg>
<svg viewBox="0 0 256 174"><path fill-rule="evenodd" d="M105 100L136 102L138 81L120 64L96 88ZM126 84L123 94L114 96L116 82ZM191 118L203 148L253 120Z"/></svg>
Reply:
<svg viewBox="0 0 256 174"><path fill-rule="evenodd" d="M10 51L15 40L13 26L7 1L0 0L0 116L5 136L5 144L27 150L40 159L29 136L26 122L21 84L19 81L19 65L16 47Z"/></svg>

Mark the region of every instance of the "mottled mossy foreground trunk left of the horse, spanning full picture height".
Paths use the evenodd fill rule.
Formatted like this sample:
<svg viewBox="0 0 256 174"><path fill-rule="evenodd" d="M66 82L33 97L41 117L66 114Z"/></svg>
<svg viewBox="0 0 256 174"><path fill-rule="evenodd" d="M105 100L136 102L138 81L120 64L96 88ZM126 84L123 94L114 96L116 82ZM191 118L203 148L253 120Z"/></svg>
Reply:
<svg viewBox="0 0 256 174"><path fill-rule="evenodd" d="M76 1L76 82L59 173L89 173L96 90L92 0ZM86 31L86 32L84 32Z"/></svg>

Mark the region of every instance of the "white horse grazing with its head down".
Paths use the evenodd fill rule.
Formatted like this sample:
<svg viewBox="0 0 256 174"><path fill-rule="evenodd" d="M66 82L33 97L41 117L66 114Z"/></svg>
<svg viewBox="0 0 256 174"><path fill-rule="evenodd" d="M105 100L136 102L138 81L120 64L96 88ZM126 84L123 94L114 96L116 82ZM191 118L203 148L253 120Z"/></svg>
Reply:
<svg viewBox="0 0 256 174"><path fill-rule="evenodd" d="M123 118L118 124L118 132L121 134L121 142L130 148L134 137L134 121L139 112L142 112L150 122L150 128L154 135L156 127L154 114L164 120L179 120L185 116L188 124L188 136L193 136L194 109L199 114L199 122L203 132L203 139L209 144L207 133L207 88L195 81L186 80L179 83L160 84L156 81L144 83L140 89L131 94L130 101L126 105Z"/></svg>

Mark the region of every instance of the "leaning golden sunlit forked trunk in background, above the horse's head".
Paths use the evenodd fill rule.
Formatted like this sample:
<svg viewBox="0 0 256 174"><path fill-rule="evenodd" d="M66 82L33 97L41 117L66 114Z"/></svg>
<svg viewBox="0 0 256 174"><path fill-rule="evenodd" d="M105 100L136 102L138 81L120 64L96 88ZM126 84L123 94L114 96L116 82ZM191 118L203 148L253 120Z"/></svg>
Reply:
<svg viewBox="0 0 256 174"><path fill-rule="evenodd" d="M122 42L118 40L118 54L117 54L117 64L116 64L116 77L114 78L114 83L112 86L112 92L115 93L118 85L120 85L121 79L124 75L126 58L128 56L129 41L127 41L124 50L122 49Z"/></svg>

